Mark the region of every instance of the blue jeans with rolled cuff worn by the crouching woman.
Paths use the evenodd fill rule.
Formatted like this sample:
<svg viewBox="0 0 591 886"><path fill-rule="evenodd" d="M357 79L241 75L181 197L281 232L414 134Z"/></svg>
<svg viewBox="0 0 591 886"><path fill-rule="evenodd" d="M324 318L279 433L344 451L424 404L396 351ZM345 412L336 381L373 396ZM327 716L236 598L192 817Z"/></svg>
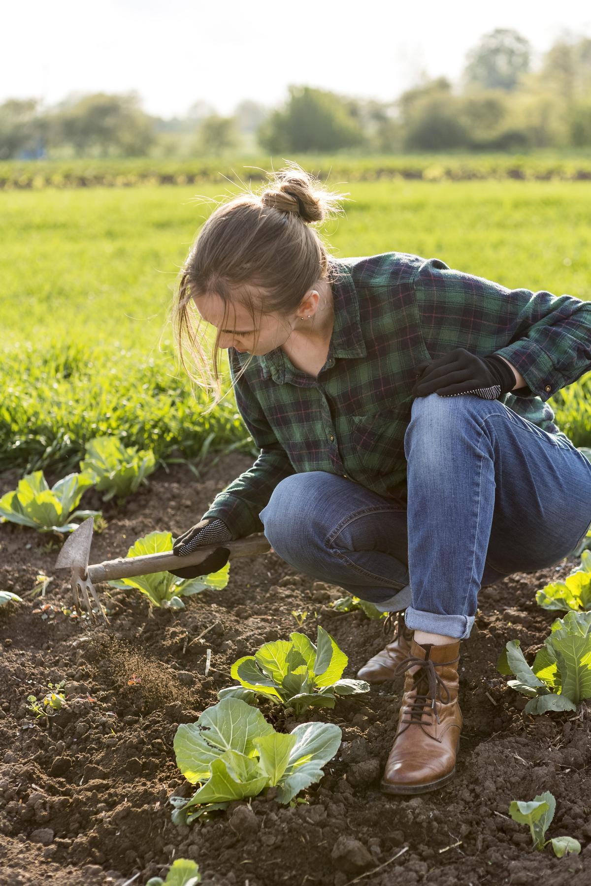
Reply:
<svg viewBox="0 0 591 886"><path fill-rule="evenodd" d="M327 471L284 478L260 513L276 553L463 640L482 585L559 563L591 523L591 462L500 400L417 397L404 452L406 509Z"/></svg>

